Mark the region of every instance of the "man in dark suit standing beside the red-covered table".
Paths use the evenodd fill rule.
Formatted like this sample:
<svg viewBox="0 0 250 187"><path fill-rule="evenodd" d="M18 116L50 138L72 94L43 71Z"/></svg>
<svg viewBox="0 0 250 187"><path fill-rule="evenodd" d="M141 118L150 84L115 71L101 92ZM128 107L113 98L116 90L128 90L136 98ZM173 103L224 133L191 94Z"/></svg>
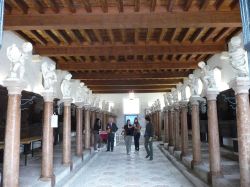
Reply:
<svg viewBox="0 0 250 187"><path fill-rule="evenodd" d="M112 117L109 118L109 123L107 124L107 133L108 133L108 141L107 141L107 151L113 152L114 150L114 141L115 141L115 133L118 130L118 127L114 123Z"/></svg>

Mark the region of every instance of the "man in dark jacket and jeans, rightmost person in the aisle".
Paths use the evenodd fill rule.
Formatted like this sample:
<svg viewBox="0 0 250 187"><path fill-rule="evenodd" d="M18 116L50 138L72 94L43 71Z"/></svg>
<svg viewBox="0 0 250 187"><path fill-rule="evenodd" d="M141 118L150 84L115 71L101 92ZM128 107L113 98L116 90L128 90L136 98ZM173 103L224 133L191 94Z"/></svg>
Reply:
<svg viewBox="0 0 250 187"><path fill-rule="evenodd" d="M153 160L153 136L154 136L154 129L151 123L151 119L148 115L145 116L146 120L146 130L145 130L145 149L147 151L146 158L150 157L149 160Z"/></svg>

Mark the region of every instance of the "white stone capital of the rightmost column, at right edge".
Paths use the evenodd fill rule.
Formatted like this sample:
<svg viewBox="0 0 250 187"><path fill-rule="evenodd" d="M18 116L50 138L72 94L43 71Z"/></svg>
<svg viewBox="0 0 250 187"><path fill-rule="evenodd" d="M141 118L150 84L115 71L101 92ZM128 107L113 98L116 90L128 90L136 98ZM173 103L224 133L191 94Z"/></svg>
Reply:
<svg viewBox="0 0 250 187"><path fill-rule="evenodd" d="M250 80L249 77L237 77L229 82L230 88L232 88L237 94L248 94L250 88Z"/></svg>

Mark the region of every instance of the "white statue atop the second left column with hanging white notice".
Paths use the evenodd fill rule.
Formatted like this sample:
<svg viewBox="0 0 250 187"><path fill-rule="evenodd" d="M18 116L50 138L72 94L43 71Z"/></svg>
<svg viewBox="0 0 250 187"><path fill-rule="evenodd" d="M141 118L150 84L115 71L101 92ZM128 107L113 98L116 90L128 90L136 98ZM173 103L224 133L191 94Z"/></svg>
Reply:
<svg viewBox="0 0 250 187"><path fill-rule="evenodd" d="M53 92L54 85L57 82L56 66L52 63L43 62L41 65L43 75L43 87L45 91Z"/></svg>

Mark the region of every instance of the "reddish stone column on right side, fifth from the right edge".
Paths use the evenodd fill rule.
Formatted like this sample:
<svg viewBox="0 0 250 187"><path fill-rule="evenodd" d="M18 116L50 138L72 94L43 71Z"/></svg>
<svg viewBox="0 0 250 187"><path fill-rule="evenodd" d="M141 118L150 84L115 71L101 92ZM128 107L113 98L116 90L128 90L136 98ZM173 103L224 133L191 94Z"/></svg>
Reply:
<svg viewBox="0 0 250 187"><path fill-rule="evenodd" d="M175 105L175 150L181 150L181 136L180 136L180 112L179 105Z"/></svg>

